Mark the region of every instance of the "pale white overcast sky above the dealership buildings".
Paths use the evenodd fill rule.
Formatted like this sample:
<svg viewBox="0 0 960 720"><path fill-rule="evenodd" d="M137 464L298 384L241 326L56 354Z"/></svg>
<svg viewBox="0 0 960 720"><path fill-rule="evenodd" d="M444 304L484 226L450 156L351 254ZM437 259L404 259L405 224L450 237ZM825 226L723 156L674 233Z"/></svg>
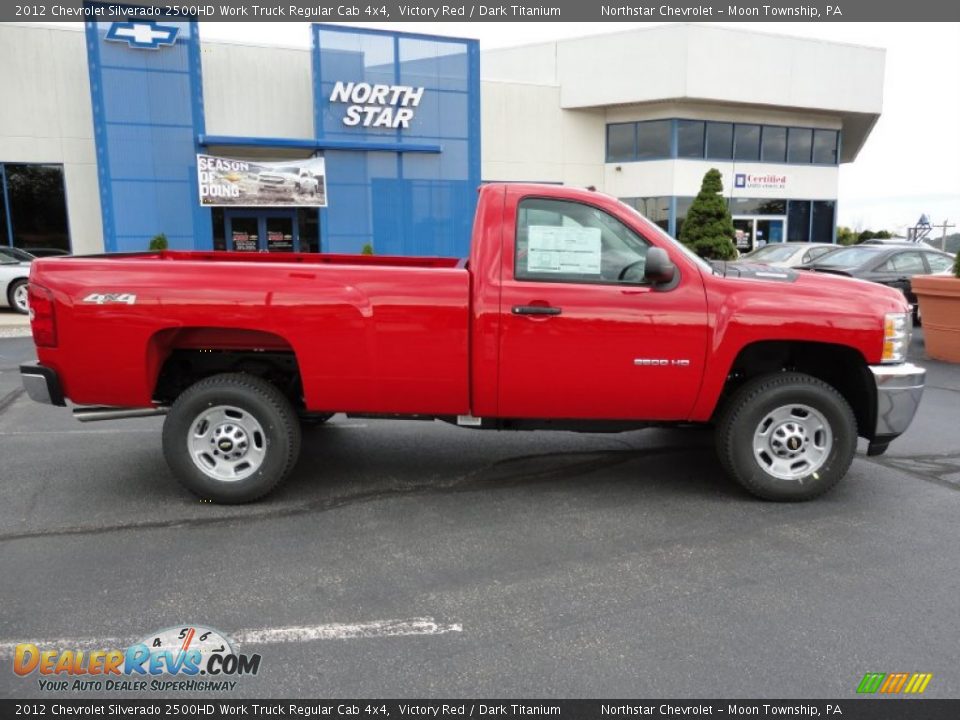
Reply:
<svg viewBox="0 0 960 720"><path fill-rule="evenodd" d="M341 23L348 24L348 23ZM598 35L654 23L363 23L472 37L483 48ZM905 234L926 213L960 226L960 23L719 23L887 51L883 113L840 168L839 224ZM308 23L201 23L201 38L308 47ZM937 231L939 232L939 231ZM948 232L960 232L954 227Z"/></svg>

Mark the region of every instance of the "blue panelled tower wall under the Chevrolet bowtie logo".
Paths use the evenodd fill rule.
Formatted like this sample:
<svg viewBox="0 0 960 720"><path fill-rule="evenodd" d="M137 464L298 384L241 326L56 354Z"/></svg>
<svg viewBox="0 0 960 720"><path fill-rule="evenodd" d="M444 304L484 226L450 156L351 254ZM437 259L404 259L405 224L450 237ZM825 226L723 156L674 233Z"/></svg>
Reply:
<svg viewBox="0 0 960 720"><path fill-rule="evenodd" d="M213 243L210 211L200 207L197 190L196 142L204 132L197 25L156 23L177 29L172 45L134 47L106 39L113 22L86 23L108 252L145 250L161 232L172 248Z"/></svg>

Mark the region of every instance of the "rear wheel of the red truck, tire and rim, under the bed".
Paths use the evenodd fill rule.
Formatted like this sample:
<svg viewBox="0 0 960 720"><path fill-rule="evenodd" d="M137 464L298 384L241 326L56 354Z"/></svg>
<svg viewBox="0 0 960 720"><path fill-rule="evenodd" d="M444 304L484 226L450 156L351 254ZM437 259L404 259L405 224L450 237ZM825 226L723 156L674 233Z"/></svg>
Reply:
<svg viewBox="0 0 960 720"><path fill-rule="evenodd" d="M300 424L289 400L253 375L190 386L163 425L163 454L188 490L218 503L263 497L293 469Z"/></svg>

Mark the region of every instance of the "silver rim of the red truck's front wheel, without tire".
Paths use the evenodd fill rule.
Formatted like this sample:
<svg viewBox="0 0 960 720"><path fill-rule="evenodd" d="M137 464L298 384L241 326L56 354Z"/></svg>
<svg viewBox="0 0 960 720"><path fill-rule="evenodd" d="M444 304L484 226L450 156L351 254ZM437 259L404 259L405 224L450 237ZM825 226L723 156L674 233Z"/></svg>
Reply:
<svg viewBox="0 0 960 720"><path fill-rule="evenodd" d="M817 472L833 448L833 431L819 410L791 403L772 410L753 433L753 456L780 480L800 480Z"/></svg>

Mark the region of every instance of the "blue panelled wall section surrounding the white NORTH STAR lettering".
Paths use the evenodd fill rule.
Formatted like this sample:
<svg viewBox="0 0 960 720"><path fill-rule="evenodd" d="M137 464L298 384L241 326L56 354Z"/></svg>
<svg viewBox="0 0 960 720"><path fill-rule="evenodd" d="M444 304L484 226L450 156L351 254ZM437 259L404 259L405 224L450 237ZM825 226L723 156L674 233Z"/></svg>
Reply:
<svg viewBox="0 0 960 720"><path fill-rule="evenodd" d="M480 49L475 40L313 26L318 140L439 144L439 153L326 151L323 250L453 255L469 251L480 185ZM409 128L343 124L337 81L425 88Z"/></svg>

